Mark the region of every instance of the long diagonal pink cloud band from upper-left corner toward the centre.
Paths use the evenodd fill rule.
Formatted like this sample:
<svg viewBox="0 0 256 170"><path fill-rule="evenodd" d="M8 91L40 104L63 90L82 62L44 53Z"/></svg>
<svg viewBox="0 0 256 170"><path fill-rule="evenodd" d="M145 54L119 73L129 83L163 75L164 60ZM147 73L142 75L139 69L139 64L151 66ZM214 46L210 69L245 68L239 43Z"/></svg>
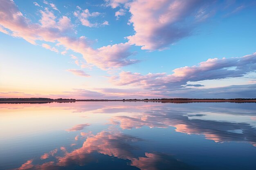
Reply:
<svg viewBox="0 0 256 170"><path fill-rule="evenodd" d="M3 33L23 38L31 44L36 44L36 40L57 43L56 45L64 46L66 50L71 49L81 53L86 62L103 70L119 68L137 62L136 60L127 59L133 55L129 52L130 45L127 43L93 49L90 47L92 42L86 37L76 38L74 25L67 16L57 18L52 11L45 8L40 10L42 16L39 20L40 23L33 23L23 16L13 1L3 0L1 3L3 5L0 6L0 31ZM83 14L80 14L84 18L87 15L99 15L98 13L89 13L89 11L83 11ZM107 24L105 21L103 23Z"/></svg>

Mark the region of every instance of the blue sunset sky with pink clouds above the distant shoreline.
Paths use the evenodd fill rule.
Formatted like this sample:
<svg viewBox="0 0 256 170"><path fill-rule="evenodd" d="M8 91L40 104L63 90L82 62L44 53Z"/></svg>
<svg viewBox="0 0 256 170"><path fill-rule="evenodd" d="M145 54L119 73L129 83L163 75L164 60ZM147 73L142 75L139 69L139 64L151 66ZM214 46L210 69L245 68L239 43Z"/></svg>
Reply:
<svg viewBox="0 0 256 170"><path fill-rule="evenodd" d="M0 0L0 98L255 98L255 0Z"/></svg>

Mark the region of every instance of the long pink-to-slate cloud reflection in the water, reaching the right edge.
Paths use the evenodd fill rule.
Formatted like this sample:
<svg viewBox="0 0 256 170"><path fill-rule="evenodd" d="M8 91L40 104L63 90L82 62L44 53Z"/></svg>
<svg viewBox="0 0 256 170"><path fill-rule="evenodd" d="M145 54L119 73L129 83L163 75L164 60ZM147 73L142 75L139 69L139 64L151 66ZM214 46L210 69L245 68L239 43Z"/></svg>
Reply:
<svg viewBox="0 0 256 170"><path fill-rule="evenodd" d="M130 116L113 116L110 122L113 125L118 125L122 129L142 128L143 126L148 126L149 128L168 128L173 126L176 128L176 132L182 132L188 135L204 135L205 139L218 143L237 141L248 142L254 146L253 143L256 142L254 136L255 128L250 124L200 119L200 116L204 116L203 114L191 114L187 116L182 114L182 112L190 113L189 110L166 112L164 110L158 110L154 106L150 110L151 113L147 113L144 110L143 113L132 114ZM198 118L189 119L188 116L198 116Z"/></svg>

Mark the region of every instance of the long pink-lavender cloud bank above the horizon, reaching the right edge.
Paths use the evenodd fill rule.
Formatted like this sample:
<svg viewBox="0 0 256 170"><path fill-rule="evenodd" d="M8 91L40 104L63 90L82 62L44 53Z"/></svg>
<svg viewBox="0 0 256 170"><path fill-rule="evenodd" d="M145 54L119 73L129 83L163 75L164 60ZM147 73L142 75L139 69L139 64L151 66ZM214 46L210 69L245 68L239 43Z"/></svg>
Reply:
<svg viewBox="0 0 256 170"><path fill-rule="evenodd" d="M229 69L236 67L236 69ZM243 57L222 59L208 59L197 66L184 66L173 70L173 74L166 73L131 73L122 71L118 76L109 78L115 85L134 85L153 89L177 89L187 82L202 80L224 79L229 77L243 77L247 73L256 71L256 53Z"/></svg>

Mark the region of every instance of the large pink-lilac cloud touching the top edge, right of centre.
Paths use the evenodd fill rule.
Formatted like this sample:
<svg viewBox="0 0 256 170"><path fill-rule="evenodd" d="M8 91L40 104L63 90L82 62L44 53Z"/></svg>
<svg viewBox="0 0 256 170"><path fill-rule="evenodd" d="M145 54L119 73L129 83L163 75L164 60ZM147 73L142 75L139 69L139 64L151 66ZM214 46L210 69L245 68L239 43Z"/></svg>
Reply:
<svg viewBox="0 0 256 170"><path fill-rule="evenodd" d="M136 0L130 2L129 22L135 34L128 36L129 43L142 46L141 49L164 49L170 44L189 36L193 22L186 18L194 17L206 1L202 0ZM207 2L208 3L208 2ZM147 18L147 19L146 19Z"/></svg>

